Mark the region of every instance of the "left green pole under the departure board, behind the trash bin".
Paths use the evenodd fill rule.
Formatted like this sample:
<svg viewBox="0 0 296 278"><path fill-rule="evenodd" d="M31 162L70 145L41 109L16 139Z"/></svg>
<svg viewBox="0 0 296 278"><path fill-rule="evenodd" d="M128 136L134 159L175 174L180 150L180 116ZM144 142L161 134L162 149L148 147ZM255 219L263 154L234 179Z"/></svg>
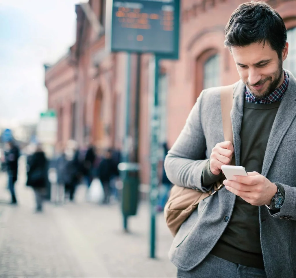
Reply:
<svg viewBox="0 0 296 278"><path fill-rule="evenodd" d="M123 162L128 162L128 137L130 132L130 102L131 102L131 54L127 53L126 62L126 124L124 137ZM127 174L127 173L126 173ZM126 178L125 174L125 178ZM123 180L124 183L124 180ZM128 231L128 215L123 215L123 229Z"/></svg>

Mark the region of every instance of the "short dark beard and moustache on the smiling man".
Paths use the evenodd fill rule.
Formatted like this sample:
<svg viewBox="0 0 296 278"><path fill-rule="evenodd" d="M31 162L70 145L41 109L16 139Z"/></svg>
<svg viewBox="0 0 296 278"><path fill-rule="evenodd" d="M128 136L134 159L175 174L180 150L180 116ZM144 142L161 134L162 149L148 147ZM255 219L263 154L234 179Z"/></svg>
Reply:
<svg viewBox="0 0 296 278"><path fill-rule="evenodd" d="M272 76L268 76L265 79L261 79L256 84L252 84L252 86L261 85L264 84L267 81L270 81L270 84L268 85L267 89L265 91L258 90L254 91L250 85L249 82L245 83L245 85L249 88L252 95L254 95L256 98L262 99L270 95L274 90L279 86L279 82L281 81L281 78L284 74L284 68L282 60L279 60L278 70L273 74L274 80L272 81Z"/></svg>

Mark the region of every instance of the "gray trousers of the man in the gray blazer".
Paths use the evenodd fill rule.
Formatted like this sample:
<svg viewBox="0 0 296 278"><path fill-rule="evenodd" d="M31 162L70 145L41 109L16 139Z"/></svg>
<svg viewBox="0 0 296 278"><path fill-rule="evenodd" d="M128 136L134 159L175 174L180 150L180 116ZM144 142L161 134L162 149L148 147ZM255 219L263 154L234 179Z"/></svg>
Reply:
<svg viewBox="0 0 296 278"><path fill-rule="evenodd" d="M198 277L266 277L264 269L242 266L218 258L212 254L207 257L194 269L183 271L178 269L178 278L198 278Z"/></svg>

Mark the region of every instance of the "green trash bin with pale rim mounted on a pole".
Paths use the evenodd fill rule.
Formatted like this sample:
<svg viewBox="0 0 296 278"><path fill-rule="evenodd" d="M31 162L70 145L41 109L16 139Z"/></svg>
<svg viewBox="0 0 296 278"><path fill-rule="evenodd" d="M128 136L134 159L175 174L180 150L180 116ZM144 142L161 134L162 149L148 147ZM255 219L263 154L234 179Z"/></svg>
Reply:
<svg viewBox="0 0 296 278"><path fill-rule="evenodd" d="M139 164L122 162L118 170L123 182L122 189L122 214L124 216L136 215L139 201Z"/></svg>

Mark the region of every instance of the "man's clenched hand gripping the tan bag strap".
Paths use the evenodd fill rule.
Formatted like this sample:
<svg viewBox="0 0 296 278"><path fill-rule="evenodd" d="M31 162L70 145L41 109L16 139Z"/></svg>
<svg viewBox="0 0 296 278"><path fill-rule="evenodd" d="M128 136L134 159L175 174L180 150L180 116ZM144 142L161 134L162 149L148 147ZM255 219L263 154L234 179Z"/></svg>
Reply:
<svg viewBox="0 0 296 278"><path fill-rule="evenodd" d="M216 144L210 156L210 171L213 175L219 175L222 165L230 165L234 154L234 147L230 141Z"/></svg>

